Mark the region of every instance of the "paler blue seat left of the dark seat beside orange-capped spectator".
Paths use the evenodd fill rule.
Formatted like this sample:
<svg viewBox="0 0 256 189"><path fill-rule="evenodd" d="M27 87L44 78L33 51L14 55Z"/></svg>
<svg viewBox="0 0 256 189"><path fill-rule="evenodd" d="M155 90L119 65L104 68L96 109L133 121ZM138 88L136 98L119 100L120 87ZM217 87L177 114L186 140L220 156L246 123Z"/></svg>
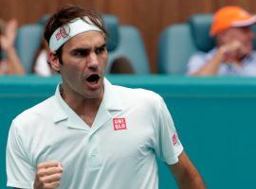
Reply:
<svg viewBox="0 0 256 189"><path fill-rule="evenodd" d="M191 28L187 24L169 26L159 37L157 66L161 74L182 75L195 51Z"/></svg>

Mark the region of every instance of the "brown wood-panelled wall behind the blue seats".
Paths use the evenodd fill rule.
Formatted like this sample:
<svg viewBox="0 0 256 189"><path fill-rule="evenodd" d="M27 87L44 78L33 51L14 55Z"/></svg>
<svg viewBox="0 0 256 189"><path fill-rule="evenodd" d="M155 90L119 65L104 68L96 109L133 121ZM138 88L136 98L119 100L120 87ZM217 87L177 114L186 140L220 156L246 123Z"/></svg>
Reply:
<svg viewBox="0 0 256 189"><path fill-rule="evenodd" d="M157 72L156 49L159 33L167 26L187 22L197 13L213 13L226 5L238 5L256 12L254 0L1 0L0 18L16 18L19 25L35 23L66 4L114 14L120 25L138 28L145 43L152 73Z"/></svg>

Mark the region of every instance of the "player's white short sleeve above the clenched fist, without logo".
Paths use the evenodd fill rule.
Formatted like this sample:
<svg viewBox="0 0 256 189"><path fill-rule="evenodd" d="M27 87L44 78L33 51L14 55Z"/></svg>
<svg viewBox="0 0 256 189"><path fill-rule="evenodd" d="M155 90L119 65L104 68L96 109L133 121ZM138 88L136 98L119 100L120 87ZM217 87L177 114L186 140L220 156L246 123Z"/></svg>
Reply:
<svg viewBox="0 0 256 189"><path fill-rule="evenodd" d="M30 163L21 136L12 122L7 145L7 185L16 188L31 188L35 169Z"/></svg>

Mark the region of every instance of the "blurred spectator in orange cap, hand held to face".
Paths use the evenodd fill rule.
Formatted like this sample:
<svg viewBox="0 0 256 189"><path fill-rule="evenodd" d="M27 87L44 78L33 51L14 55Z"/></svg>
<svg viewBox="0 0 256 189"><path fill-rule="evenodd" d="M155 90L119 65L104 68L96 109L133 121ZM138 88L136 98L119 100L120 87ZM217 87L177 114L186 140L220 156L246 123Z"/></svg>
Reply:
<svg viewBox="0 0 256 189"><path fill-rule="evenodd" d="M188 64L189 75L256 77L254 33L250 27L255 22L256 15L240 7L217 10L210 28L216 47L209 53L198 52L192 56Z"/></svg>

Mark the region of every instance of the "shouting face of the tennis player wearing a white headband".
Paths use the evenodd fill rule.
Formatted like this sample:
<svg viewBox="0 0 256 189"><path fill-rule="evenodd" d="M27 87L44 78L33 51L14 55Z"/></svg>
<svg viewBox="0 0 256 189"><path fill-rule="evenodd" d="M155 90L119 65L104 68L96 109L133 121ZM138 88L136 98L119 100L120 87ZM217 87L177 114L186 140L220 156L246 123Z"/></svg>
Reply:
<svg viewBox="0 0 256 189"><path fill-rule="evenodd" d="M88 31L71 38L63 46L62 60L63 64L58 63L65 96L102 97L108 54L101 32Z"/></svg>

